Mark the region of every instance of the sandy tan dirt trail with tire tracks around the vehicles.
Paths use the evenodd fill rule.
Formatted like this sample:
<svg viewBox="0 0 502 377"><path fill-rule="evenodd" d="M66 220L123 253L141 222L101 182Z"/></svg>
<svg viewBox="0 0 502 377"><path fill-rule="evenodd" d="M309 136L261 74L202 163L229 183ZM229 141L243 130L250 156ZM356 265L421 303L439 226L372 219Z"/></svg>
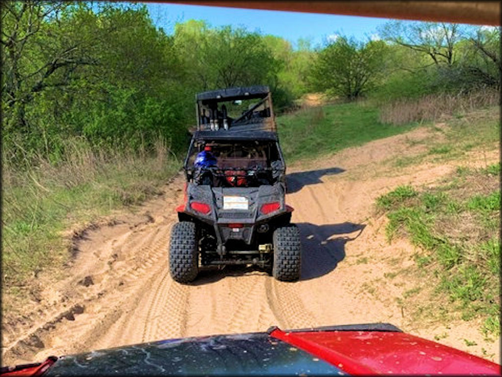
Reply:
<svg viewBox="0 0 502 377"><path fill-rule="evenodd" d="M410 327L396 303L409 288L407 281L385 279L390 269L413 263L414 248L404 240L389 245L385 217L372 215L375 198L393 187L432 183L453 171L454 162L429 163L386 175L385 161L418 153L423 146L406 140L430 137L429 132L417 129L322 163L288 168L287 202L295 208L292 221L303 246L302 278L293 283L244 267L202 270L191 285L173 281L167 250L177 221L174 208L183 197L183 176L176 176L164 195L135 213L117 214L74 235L76 257L68 277L43 292L25 322L3 325L3 364L165 338L265 331L272 325L390 322L432 339L441 329ZM498 160L498 152L489 158ZM459 333L443 342L478 352L462 344L464 337L480 339L471 327L459 326ZM490 351L498 360L497 344Z"/></svg>

